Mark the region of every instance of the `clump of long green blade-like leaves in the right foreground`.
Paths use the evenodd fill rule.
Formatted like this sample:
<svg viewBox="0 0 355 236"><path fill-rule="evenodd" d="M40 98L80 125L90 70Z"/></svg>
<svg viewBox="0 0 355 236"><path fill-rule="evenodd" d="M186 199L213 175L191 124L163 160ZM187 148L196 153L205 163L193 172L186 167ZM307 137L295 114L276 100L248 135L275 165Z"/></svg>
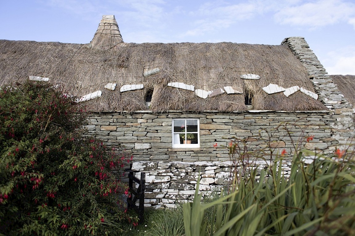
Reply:
<svg viewBox="0 0 355 236"><path fill-rule="evenodd" d="M229 194L210 203L201 203L196 190L193 202L183 206L186 236L355 235L352 152L299 150L289 176L282 163L277 155L266 169L248 168Z"/></svg>

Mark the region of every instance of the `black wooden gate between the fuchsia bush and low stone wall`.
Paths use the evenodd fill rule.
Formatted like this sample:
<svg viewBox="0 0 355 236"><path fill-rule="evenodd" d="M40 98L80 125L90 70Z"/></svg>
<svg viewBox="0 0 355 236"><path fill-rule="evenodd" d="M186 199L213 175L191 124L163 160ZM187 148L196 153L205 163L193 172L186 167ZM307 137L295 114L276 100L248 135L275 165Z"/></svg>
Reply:
<svg viewBox="0 0 355 236"><path fill-rule="evenodd" d="M129 169L126 169L129 178L129 192L130 195L127 198L127 208L133 208L138 213L139 223L144 221L144 190L146 185L146 173L141 172L141 179L134 176L132 171L132 164ZM138 188L133 189L133 182L138 183ZM136 184L135 184L136 185ZM136 206L136 201L139 200L139 206Z"/></svg>

